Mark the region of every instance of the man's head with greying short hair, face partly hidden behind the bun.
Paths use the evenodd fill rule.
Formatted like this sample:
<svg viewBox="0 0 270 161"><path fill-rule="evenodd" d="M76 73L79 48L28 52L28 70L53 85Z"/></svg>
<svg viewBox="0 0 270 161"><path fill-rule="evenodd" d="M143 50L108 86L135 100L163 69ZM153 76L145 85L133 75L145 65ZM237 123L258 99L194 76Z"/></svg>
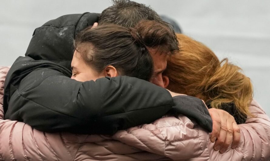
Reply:
<svg viewBox="0 0 270 161"><path fill-rule="evenodd" d="M178 41L174 30L170 25L163 21L160 16L149 6L132 2L130 0L113 0L113 5L103 10L99 17L99 24L118 24L124 27L134 27L141 20L155 20L170 30L171 43L158 48L147 48L154 61L154 72L150 82L164 87L168 83L167 79L162 77L162 72L167 66L167 57L179 50ZM164 49L167 48L167 49Z"/></svg>

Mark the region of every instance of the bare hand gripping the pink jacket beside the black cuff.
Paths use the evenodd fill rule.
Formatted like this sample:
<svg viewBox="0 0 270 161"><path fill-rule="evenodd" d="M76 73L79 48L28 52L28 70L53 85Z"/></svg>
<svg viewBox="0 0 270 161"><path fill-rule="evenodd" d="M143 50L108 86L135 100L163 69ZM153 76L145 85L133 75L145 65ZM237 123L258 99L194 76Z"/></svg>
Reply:
<svg viewBox="0 0 270 161"><path fill-rule="evenodd" d="M234 117L220 109L210 108L208 111L213 120L211 142L215 142L214 149L220 153L224 153L230 145L235 149L240 142L240 128Z"/></svg>

